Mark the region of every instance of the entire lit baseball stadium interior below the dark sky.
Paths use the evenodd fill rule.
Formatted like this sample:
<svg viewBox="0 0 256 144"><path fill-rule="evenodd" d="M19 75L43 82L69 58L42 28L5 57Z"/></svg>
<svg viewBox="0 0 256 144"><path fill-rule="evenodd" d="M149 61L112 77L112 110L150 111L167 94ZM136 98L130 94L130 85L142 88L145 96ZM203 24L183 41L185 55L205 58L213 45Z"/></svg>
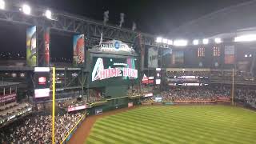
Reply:
<svg viewBox="0 0 256 144"><path fill-rule="evenodd" d="M255 10L159 36L0 0L0 143L254 143Z"/></svg>

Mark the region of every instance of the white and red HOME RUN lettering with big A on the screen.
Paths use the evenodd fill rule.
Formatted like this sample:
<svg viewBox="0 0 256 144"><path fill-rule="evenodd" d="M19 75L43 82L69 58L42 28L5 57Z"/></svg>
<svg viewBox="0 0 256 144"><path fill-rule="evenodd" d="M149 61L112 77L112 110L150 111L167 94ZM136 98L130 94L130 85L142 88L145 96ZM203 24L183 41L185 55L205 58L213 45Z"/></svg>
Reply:
<svg viewBox="0 0 256 144"><path fill-rule="evenodd" d="M92 72L92 82L115 77L138 78L138 70L128 67L109 67L104 69L103 59L98 58Z"/></svg>

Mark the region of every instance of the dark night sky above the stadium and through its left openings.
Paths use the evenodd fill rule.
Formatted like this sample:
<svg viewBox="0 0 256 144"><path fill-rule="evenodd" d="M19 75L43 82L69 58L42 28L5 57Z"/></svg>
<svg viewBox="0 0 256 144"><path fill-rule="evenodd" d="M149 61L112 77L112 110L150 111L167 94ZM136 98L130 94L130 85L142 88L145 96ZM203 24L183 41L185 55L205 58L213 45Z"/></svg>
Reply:
<svg viewBox="0 0 256 144"><path fill-rule="evenodd" d="M131 29L132 22L136 22L139 31L165 35L193 19L246 1L249 0L28 0L26 2L98 21L103 20L104 11L110 10L109 23L113 25L118 25L120 13L124 13L126 14L124 27ZM10 26L10 24L6 26L0 22L1 51L25 50L23 49L26 46L25 31L24 26ZM63 43L62 45L70 46Z"/></svg>

